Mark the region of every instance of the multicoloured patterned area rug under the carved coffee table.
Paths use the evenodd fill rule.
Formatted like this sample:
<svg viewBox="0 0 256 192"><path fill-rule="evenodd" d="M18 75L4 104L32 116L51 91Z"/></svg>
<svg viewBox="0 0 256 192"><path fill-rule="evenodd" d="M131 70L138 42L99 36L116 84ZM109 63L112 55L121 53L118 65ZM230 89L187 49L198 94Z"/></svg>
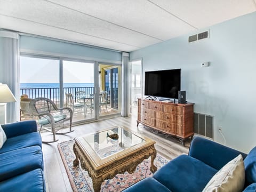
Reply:
<svg viewBox="0 0 256 192"><path fill-rule="evenodd" d="M83 170L80 165L79 167L73 166L73 161L75 159L75 154L73 153L74 142L74 140L70 140L58 144L60 156L66 168L70 185L73 191L94 191L92 187L92 179L89 177L88 172ZM167 162L169 162L169 160L157 154L154 164L158 170ZM137 166L133 174L125 172L124 174L117 174L113 179L105 180L101 185L101 191L122 191L133 183L152 176L153 173L150 171L149 157Z"/></svg>

